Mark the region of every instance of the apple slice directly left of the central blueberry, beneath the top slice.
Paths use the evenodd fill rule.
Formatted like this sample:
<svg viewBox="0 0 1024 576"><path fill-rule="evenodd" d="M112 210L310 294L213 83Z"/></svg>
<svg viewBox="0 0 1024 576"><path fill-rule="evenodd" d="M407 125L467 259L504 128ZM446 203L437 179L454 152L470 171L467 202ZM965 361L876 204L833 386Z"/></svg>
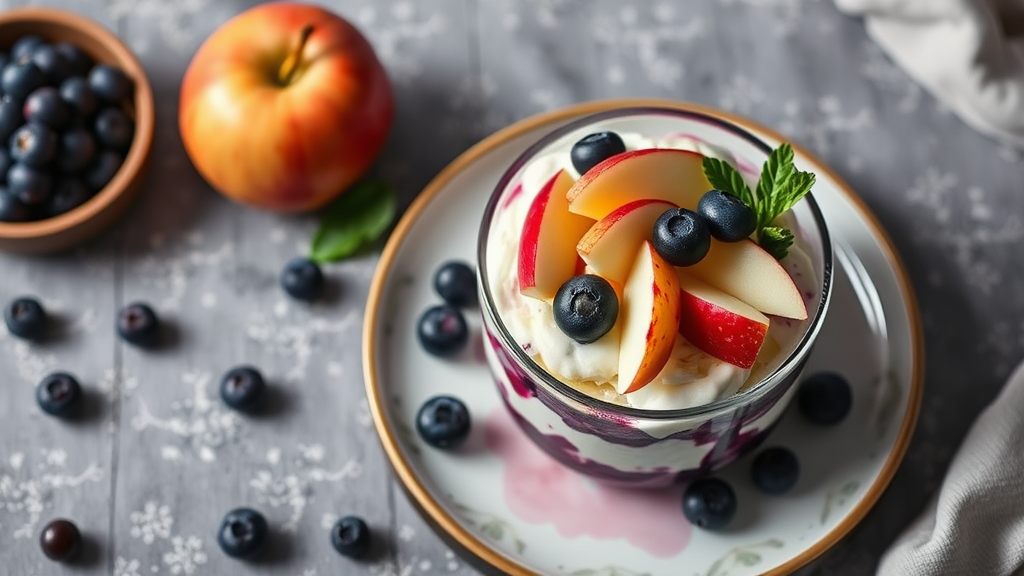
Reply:
<svg viewBox="0 0 1024 576"><path fill-rule="evenodd" d="M654 221L673 208L678 206L664 200L636 200L620 206L590 227L577 251L606 280L625 282L637 249L651 237Z"/></svg>

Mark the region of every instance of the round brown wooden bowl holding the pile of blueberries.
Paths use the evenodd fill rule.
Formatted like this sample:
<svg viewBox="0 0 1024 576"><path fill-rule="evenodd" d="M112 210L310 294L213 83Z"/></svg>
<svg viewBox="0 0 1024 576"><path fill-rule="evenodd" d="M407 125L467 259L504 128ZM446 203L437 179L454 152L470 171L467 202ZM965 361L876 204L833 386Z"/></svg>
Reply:
<svg viewBox="0 0 1024 576"><path fill-rule="evenodd" d="M0 49L19 37L35 34L49 42L72 42L94 61L116 66L135 84L132 98L135 135L114 179L85 204L52 218L31 222L0 222L0 250L20 253L55 252L75 247L106 230L138 195L153 148L156 121L153 88L138 59L117 36L84 16L50 8L17 8L0 13Z"/></svg>

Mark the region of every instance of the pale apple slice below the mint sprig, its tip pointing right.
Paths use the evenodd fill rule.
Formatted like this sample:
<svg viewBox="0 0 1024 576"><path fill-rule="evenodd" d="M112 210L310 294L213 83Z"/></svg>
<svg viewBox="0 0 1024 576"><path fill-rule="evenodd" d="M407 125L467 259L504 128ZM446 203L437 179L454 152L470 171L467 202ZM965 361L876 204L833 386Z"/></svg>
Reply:
<svg viewBox="0 0 1024 576"><path fill-rule="evenodd" d="M764 314L807 319L807 306L790 273L750 240L711 241L711 250L687 274L739 298Z"/></svg>

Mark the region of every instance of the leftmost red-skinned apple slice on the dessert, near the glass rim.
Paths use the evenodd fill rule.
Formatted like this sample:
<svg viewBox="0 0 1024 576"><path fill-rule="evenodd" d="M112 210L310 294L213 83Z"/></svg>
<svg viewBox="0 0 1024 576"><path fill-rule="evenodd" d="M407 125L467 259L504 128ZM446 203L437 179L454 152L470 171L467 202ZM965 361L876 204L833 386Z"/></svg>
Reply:
<svg viewBox="0 0 1024 576"><path fill-rule="evenodd" d="M594 223L569 212L566 191L572 176L559 170L534 198L519 237L519 292L550 300L575 274L575 245Z"/></svg>

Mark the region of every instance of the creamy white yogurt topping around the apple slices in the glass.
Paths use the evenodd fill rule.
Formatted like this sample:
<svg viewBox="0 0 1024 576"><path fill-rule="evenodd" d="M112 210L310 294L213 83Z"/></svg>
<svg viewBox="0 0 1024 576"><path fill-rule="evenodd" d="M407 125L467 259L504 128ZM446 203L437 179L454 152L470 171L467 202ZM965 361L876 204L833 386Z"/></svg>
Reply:
<svg viewBox="0 0 1024 576"><path fill-rule="evenodd" d="M627 150L672 148L735 163L728 151L687 136L648 138L637 133L620 133L620 136ZM526 213L541 188L558 170L565 169L573 178L579 178L569 160L570 147L568 143L562 150L539 156L526 166L520 178L522 191L499 208L489 233L487 274L492 295L499 317L523 349L552 375L592 397L648 410L708 404L738 392L752 378L752 370L753 378L757 379L774 370L793 351L803 331L803 323L772 318L765 344L752 370L709 356L679 336L672 358L654 380L637 392L622 396L614 387L618 371L617 330L595 342L581 344L555 325L550 302L519 293L518 245ZM796 246L783 261L791 274L793 266L807 266L805 270L810 271L805 262L806 256ZM813 277L813 274L805 276Z"/></svg>

